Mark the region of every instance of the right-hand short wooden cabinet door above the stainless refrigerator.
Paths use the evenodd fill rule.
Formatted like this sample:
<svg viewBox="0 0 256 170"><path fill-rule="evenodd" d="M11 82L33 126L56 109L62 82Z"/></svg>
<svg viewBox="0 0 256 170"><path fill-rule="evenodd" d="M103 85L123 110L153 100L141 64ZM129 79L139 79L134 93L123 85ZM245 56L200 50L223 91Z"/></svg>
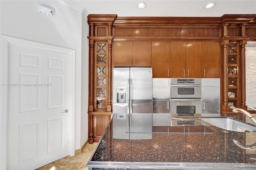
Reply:
<svg viewBox="0 0 256 170"><path fill-rule="evenodd" d="M134 67L151 67L151 42L132 42Z"/></svg>

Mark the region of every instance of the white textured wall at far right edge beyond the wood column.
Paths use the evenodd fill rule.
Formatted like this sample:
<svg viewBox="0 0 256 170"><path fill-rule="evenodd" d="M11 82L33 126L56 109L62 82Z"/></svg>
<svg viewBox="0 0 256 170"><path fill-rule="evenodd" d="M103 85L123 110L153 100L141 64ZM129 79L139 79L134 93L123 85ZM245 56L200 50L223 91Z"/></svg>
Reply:
<svg viewBox="0 0 256 170"><path fill-rule="evenodd" d="M246 105L256 108L256 42L246 45ZM249 108L248 108L249 109Z"/></svg>

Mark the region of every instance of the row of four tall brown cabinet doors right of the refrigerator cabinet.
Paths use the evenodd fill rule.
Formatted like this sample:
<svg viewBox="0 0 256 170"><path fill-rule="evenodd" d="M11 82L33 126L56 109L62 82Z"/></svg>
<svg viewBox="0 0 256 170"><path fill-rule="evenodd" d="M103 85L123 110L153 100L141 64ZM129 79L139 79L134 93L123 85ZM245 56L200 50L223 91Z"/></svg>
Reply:
<svg viewBox="0 0 256 170"><path fill-rule="evenodd" d="M220 78L219 42L152 42L153 77Z"/></svg>

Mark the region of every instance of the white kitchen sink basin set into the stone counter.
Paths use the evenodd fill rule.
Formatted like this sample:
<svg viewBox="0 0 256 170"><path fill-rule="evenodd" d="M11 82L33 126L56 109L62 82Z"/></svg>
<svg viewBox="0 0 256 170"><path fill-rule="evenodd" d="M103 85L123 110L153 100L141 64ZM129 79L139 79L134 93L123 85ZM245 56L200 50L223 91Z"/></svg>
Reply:
<svg viewBox="0 0 256 170"><path fill-rule="evenodd" d="M224 130L256 132L256 126L232 117L200 117L203 121Z"/></svg>

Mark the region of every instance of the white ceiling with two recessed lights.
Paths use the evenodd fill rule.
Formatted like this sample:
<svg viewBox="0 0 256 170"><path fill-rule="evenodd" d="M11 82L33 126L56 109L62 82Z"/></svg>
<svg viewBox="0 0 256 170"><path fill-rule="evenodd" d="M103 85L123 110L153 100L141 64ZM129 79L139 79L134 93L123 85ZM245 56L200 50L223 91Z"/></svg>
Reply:
<svg viewBox="0 0 256 170"><path fill-rule="evenodd" d="M194 16L220 17L224 14L256 14L256 0L63 0L66 4L88 14L117 14L121 16ZM146 2L139 9L138 2ZM208 2L216 2L205 9Z"/></svg>

